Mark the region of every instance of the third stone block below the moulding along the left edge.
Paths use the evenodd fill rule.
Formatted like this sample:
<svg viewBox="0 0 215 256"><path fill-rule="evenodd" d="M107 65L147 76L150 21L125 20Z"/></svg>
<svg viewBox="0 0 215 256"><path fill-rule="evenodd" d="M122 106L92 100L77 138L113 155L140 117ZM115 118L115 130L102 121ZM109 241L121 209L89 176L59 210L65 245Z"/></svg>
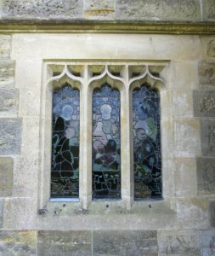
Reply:
<svg viewBox="0 0 215 256"><path fill-rule="evenodd" d="M19 90L0 88L0 117L16 117L18 102Z"/></svg>

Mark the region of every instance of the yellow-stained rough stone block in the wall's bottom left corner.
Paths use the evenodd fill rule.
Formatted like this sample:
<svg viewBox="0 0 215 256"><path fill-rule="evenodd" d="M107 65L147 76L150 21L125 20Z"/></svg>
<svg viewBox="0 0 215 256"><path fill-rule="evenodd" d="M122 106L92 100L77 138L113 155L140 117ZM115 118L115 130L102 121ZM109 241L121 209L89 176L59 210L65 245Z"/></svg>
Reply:
<svg viewBox="0 0 215 256"><path fill-rule="evenodd" d="M0 255L33 256L36 248L36 231L0 231Z"/></svg>

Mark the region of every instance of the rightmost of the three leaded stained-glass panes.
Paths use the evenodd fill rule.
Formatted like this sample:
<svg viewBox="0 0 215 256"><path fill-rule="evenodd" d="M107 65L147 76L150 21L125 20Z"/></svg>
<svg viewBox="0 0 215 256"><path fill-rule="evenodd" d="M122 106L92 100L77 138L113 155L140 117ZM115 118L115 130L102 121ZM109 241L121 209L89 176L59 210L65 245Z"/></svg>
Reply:
<svg viewBox="0 0 215 256"><path fill-rule="evenodd" d="M133 90L134 199L161 198L160 96L147 84Z"/></svg>

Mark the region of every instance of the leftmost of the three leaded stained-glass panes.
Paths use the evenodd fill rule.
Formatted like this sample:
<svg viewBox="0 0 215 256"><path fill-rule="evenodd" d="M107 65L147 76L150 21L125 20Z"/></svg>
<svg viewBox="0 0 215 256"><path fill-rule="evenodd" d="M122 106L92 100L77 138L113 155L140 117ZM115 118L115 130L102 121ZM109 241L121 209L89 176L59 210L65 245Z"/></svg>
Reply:
<svg viewBox="0 0 215 256"><path fill-rule="evenodd" d="M70 84L53 93L51 197L77 198L79 192L79 90Z"/></svg>

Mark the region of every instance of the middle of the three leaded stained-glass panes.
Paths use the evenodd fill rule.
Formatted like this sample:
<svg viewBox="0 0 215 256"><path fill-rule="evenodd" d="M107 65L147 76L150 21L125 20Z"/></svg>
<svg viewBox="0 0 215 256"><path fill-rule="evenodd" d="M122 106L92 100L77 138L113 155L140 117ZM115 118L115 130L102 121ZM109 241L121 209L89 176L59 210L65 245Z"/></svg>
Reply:
<svg viewBox="0 0 215 256"><path fill-rule="evenodd" d="M93 90L93 199L121 198L120 92Z"/></svg>

